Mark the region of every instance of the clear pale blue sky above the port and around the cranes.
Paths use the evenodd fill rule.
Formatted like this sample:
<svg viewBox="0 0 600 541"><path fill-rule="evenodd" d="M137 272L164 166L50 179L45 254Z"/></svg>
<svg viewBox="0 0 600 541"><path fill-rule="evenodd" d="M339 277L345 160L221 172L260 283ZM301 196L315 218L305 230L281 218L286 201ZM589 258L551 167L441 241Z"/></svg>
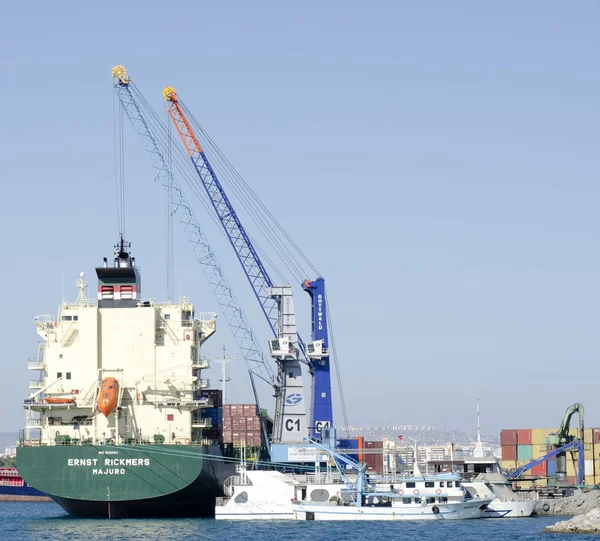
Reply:
<svg viewBox="0 0 600 541"><path fill-rule="evenodd" d="M115 64L157 109L178 89L326 277L352 424L474 429L480 396L487 432L575 401L600 426L599 23L592 1L5 4L0 430L61 273L93 292L112 252ZM127 236L162 299L164 199L126 128ZM178 291L216 310L176 238ZM206 353L234 353L219 331Z"/></svg>

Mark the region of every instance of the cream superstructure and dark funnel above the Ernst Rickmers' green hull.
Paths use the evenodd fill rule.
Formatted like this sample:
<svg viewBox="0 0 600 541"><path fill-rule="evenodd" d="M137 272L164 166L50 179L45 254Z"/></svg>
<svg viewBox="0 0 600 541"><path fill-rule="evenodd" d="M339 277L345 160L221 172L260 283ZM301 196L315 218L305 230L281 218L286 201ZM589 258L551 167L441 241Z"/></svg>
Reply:
<svg viewBox="0 0 600 541"><path fill-rule="evenodd" d="M142 300L135 259L123 239L114 264L96 269L98 300L85 295L63 303L58 317L38 316L43 342L29 369L25 439L43 445L77 443L165 443L203 441L210 419L200 409L209 386L202 377L208 361L200 346L215 331L214 313L196 315L186 299ZM113 414L98 411L105 378L118 382ZM38 435L39 434L39 435Z"/></svg>

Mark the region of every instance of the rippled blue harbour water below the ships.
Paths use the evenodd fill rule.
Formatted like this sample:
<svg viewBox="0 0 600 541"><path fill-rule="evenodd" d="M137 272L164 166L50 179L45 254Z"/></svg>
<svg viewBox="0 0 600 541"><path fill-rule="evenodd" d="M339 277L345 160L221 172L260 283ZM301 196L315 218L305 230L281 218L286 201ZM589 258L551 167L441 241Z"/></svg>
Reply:
<svg viewBox="0 0 600 541"><path fill-rule="evenodd" d="M227 522L209 519L91 520L69 518L54 503L0 502L0 541L18 540L180 540L218 541L546 541L593 539L593 536L543 533L559 518L487 519L436 522Z"/></svg>

